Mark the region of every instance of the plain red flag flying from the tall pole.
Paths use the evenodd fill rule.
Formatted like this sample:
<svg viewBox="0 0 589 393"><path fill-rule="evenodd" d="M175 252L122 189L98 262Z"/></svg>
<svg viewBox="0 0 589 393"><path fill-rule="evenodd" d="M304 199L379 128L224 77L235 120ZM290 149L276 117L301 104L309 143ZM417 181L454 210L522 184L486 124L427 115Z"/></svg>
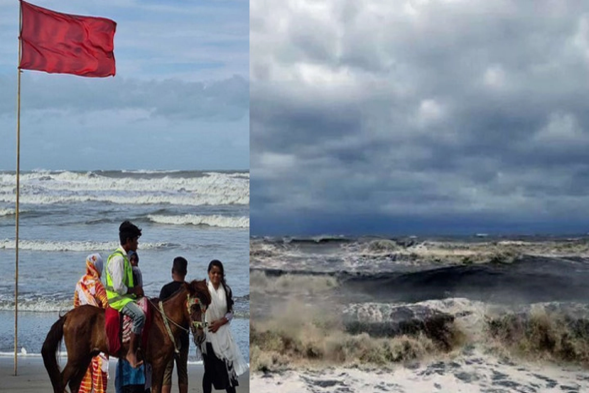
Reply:
<svg viewBox="0 0 589 393"><path fill-rule="evenodd" d="M21 12L19 68L82 77L115 74L114 21L62 14L22 0Z"/></svg>

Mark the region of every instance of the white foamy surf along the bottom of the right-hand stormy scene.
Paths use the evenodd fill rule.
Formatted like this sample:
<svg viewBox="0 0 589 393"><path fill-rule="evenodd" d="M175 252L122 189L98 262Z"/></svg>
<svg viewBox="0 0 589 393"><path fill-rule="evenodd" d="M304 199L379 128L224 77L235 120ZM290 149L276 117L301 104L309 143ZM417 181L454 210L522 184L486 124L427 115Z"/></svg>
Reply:
<svg viewBox="0 0 589 393"><path fill-rule="evenodd" d="M299 392L585 392L587 371L498 358L474 350L438 361L392 368L328 366L272 373L252 373L250 389L274 393Z"/></svg>

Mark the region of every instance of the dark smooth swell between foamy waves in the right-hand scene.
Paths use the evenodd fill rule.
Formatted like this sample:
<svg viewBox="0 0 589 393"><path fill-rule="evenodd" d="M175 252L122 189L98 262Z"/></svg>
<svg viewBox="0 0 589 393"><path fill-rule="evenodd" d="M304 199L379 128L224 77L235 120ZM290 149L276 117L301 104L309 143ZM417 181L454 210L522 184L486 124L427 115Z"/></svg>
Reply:
<svg viewBox="0 0 589 393"><path fill-rule="evenodd" d="M386 266L383 271L381 265L372 264L360 272L344 267L338 264L334 268L329 263L309 259L299 262L296 269L269 269L259 267L259 263L253 260L250 275L262 273L270 280L270 285L283 276L296 276L302 282L332 278L337 280L337 287L342 292L388 302L420 302L449 296L504 303L582 301L587 299L589 280L589 263L581 257L526 256L509 263L419 265L412 269L402 265L397 271L389 271L393 265Z"/></svg>

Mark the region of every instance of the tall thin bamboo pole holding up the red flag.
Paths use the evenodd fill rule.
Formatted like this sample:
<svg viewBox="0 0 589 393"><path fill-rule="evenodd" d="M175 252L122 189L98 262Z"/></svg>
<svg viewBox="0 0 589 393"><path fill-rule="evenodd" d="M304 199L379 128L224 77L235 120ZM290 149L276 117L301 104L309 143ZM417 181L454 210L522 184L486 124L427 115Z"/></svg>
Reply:
<svg viewBox="0 0 589 393"><path fill-rule="evenodd" d="M22 31L22 4L18 2L18 71L17 93L16 93L16 267L14 279L14 375L18 375L18 358L16 349L18 348L18 209L19 209L19 191L20 191L20 173L21 173L21 31Z"/></svg>

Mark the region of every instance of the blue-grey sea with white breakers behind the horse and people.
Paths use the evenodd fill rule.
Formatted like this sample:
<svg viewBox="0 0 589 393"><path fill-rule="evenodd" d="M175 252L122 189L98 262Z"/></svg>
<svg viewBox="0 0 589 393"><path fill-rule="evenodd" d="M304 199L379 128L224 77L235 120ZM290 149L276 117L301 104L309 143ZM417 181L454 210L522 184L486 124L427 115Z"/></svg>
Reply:
<svg viewBox="0 0 589 393"><path fill-rule="evenodd" d="M223 262L235 298L231 331L249 359L248 171L35 170L20 181L19 354L40 356L49 328L73 306L86 256L106 263L119 225L131 220L143 230L146 296L172 280L174 257L188 260L187 280ZM15 189L14 171L0 171L0 356L14 355L15 344ZM198 361L192 342L189 356Z"/></svg>

